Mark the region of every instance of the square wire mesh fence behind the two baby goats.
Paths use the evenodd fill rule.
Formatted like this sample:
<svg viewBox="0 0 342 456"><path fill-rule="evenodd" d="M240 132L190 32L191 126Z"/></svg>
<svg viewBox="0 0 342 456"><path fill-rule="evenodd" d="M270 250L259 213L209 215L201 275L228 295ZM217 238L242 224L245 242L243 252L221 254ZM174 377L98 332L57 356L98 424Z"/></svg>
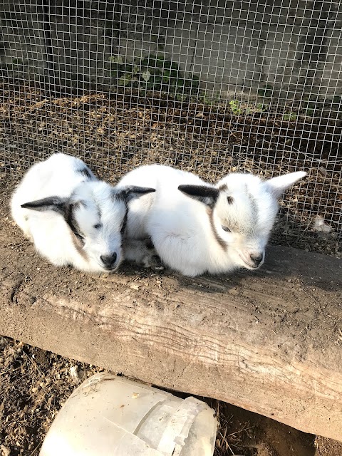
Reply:
<svg viewBox="0 0 342 456"><path fill-rule="evenodd" d="M306 170L274 237L341 256L338 1L3 1L1 175L52 152L116 182Z"/></svg>

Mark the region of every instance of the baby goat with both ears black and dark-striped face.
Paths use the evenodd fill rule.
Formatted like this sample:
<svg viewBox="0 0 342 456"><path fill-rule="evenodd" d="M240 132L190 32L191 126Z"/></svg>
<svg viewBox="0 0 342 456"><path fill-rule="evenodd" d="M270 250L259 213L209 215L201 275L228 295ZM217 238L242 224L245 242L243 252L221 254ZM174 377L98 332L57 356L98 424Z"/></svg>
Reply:
<svg viewBox="0 0 342 456"><path fill-rule="evenodd" d="M11 198L11 214L52 264L113 272L123 259L128 202L154 191L118 190L98 180L82 160L58 153L26 172Z"/></svg>

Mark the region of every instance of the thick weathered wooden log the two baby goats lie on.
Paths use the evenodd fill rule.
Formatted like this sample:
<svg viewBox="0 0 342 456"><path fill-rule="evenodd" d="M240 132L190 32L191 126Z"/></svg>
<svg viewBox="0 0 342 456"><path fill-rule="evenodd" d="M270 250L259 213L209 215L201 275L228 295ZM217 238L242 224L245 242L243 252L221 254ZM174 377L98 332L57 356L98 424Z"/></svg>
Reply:
<svg viewBox="0 0 342 456"><path fill-rule="evenodd" d="M254 274L88 276L1 213L1 334L342 440L342 261L270 247Z"/></svg>

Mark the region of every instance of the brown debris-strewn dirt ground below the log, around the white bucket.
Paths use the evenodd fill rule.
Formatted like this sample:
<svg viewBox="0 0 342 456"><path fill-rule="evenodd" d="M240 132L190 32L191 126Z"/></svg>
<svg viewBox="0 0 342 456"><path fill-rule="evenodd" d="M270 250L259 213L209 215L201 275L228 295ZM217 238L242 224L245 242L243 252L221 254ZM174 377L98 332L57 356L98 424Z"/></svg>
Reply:
<svg viewBox="0 0 342 456"><path fill-rule="evenodd" d="M53 418L73 389L102 371L4 337L0 366L1 456L38 455ZM342 455L342 444L334 440L304 434L218 400L204 400L216 410L219 423L214 456Z"/></svg>

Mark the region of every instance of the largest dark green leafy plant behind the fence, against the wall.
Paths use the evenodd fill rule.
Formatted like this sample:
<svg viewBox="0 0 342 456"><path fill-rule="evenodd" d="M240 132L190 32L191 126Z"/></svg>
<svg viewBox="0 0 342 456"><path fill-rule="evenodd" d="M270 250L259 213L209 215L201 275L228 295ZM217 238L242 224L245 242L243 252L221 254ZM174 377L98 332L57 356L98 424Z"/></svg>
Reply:
<svg viewBox="0 0 342 456"><path fill-rule="evenodd" d="M177 99L198 93L199 78L195 75L186 77L177 63L167 60L164 55L150 54L132 62L124 61L122 56L111 56L108 60L110 77L117 80L118 86L165 91L177 95Z"/></svg>

